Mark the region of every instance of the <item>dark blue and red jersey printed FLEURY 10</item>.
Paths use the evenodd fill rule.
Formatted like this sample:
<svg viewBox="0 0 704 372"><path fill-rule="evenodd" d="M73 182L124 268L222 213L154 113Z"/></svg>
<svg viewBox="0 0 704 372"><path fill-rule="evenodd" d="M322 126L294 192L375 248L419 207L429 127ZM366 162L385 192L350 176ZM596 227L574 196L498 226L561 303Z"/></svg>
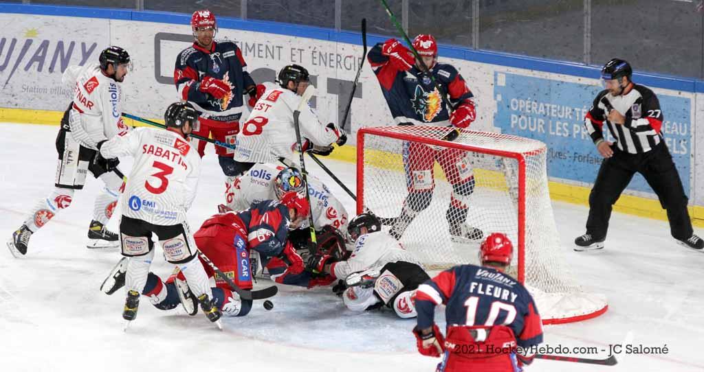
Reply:
<svg viewBox="0 0 704 372"><path fill-rule="evenodd" d="M521 347L543 341L542 321L533 297L521 283L496 269L456 266L420 285L415 299L418 328L432 326L438 304L446 304L448 328L508 326Z"/></svg>

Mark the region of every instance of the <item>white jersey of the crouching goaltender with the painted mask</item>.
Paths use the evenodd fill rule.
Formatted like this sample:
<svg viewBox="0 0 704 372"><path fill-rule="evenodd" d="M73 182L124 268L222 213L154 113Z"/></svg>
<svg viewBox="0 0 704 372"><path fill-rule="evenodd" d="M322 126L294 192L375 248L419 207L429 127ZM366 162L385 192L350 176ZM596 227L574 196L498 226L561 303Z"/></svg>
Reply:
<svg viewBox="0 0 704 372"><path fill-rule="evenodd" d="M255 164L248 172L237 177L226 195L227 206L232 210L246 210L252 203L262 200L277 200L275 179L284 169L272 164ZM325 184L308 175L308 193L313 207L313 224L316 229L331 225L343 233L347 229L348 214L345 207L335 198ZM231 194L231 195L230 195ZM308 228L308 220L301 228Z"/></svg>

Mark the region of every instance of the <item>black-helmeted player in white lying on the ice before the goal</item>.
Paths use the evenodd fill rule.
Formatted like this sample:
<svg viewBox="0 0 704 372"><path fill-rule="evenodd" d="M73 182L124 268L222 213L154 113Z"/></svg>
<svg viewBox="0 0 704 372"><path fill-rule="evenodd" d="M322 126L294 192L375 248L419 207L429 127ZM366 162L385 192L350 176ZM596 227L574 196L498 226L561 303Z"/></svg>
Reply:
<svg viewBox="0 0 704 372"><path fill-rule="evenodd" d="M345 261L315 255L308 261L308 269L343 279L348 288L342 300L354 312L386 306L401 318L412 318L417 315L415 289L430 277L417 258L381 229L382 223L374 214L358 214L347 226L355 242L352 255ZM334 290L339 293L343 288L340 283Z"/></svg>

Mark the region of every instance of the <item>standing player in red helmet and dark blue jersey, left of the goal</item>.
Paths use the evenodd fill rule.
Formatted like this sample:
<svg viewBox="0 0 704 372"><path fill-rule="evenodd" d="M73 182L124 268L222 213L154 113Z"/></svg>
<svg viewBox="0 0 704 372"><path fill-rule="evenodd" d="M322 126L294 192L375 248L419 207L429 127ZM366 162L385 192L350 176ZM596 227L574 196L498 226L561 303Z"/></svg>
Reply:
<svg viewBox="0 0 704 372"><path fill-rule="evenodd" d="M212 134L213 139L234 145L240 129L243 94L249 94L249 105L254 105L263 87L257 90L237 44L227 39L215 41L218 25L213 13L195 11L191 16L191 29L195 38L193 45L176 58L174 82L179 98L189 101L201 112L193 134L204 137ZM202 158L206 142L191 141L198 144ZM246 170L232 160L234 150L215 146L215 153L225 176L235 177ZM228 182L232 181L228 178Z"/></svg>

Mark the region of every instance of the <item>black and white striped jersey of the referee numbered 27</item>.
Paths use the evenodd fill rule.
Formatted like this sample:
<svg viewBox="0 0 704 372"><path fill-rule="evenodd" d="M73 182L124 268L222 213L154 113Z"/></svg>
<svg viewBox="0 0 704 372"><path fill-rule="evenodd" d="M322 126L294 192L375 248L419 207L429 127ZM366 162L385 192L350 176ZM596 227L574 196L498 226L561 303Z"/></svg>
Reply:
<svg viewBox="0 0 704 372"><path fill-rule="evenodd" d="M626 117L624 124L606 120L611 109L618 110ZM633 84L627 94L620 96L612 96L606 89L599 92L586 113L584 125L592 141L597 143L604 138L603 127L606 124L620 150L638 154L652 150L662 141L662 118L655 93L646 86Z"/></svg>

